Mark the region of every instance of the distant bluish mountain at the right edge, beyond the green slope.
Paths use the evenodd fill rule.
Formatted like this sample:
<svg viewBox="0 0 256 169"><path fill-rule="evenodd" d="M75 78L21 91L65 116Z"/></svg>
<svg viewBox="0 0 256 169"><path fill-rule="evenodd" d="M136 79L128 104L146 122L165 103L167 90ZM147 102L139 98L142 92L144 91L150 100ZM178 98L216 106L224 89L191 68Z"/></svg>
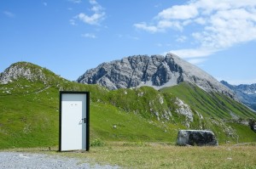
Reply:
<svg viewBox="0 0 256 169"><path fill-rule="evenodd" d="M241 103L256 111L256 83L251 85L230 85L228 82L221 81L226 87L229 87L236 94Z"/></svg>

